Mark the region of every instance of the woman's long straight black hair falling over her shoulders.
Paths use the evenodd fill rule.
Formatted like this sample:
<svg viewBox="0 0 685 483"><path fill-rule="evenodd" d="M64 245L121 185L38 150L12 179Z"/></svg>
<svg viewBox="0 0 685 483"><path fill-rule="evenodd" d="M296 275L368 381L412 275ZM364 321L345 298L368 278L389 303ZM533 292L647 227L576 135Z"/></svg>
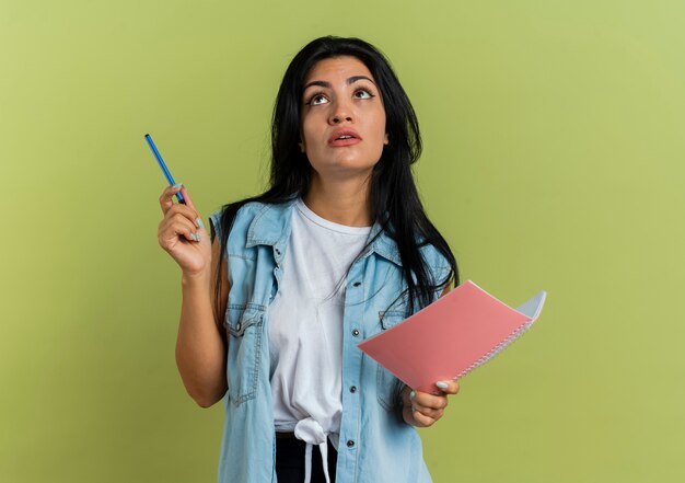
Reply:
<svg viewBox="0 0 685 483"><path fill-rule="evenodd" d="M306 194L312 166L298 145L304 79L320 60L341 56L356 57L367 66L376 81L385 107L385 130L390 143L384 147L371 175L371 217L397 243L407 284L405 294L408 294L409 310L414 312L416 308L429 304L440 287L450 281L454 287L458 285L458 271L448 242L426 216L414 183L410 165L421 153L421 136L414 107L387 59L375 47L359 38L316 38L305 45L288 66L271 119L270 187L258 196L223 206L219 230L221 255L217 273L221 273L229 232L243 205L249 202L286 203ZM369 241L369 244L373 241ZM432 279L419 251L426 244L433 245L450 265L451 271L445 279ZM219 307L220 276L217 277L214 289ZM405 294L399 295L398 299ZM219 317L217 320L221 319Z"/></svg>

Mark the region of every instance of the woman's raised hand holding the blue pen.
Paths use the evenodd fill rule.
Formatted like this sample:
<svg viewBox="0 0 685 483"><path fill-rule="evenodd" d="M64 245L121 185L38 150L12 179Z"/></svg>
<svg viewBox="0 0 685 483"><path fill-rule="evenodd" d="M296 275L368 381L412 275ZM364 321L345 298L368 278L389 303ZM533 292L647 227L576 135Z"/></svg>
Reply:
<svg viewBox="0 0 685 483"><path fill-rule="evenodd" d="M173 197L181 192L186 205L176 204ZM158 241L176 261L184 275L209 276L211 272L211 242L202 220L195 209L185 187L177 185L164 189L160 197L164 219L158 229Z"/></svg>

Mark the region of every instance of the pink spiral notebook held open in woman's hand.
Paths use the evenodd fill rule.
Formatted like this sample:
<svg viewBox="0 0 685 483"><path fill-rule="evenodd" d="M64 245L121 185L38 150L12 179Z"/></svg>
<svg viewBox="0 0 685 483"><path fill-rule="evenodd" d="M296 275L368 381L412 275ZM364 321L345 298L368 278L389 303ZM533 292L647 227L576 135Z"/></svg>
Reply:
<svg viewBox="0 0 685 483"><path fill-rule="evenodd" d="M471 280L358 347L405 384L434 392L499 354L537 320L546 291L516 309Z"/></svg>

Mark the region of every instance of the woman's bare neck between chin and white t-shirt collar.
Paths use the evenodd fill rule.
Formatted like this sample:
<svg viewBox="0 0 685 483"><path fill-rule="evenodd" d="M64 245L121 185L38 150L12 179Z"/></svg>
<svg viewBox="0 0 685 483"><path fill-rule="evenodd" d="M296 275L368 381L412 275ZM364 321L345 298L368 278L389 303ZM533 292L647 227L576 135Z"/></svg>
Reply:
<svg viewBox="0 0 685 483"><path fill-rule="evenodd" d="M316 172L304 197L304 204L320 217L348 227L370 227L370 177L326 182Z"/></svg>

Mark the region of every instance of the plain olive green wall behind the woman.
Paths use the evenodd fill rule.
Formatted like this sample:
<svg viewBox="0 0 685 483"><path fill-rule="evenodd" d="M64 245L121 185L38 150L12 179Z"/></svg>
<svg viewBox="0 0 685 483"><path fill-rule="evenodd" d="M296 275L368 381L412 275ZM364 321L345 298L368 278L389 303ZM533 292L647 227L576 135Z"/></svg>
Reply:
<svg viewBox="0 0 685 483"><path fill-rule="evenodd" d="M683 25L675 0L0 0L0 481L214 481L143 135L205 216L259 192L325 34L391 58L463 279L548 291L421 430L434 481L684 481Z"/></svg>

